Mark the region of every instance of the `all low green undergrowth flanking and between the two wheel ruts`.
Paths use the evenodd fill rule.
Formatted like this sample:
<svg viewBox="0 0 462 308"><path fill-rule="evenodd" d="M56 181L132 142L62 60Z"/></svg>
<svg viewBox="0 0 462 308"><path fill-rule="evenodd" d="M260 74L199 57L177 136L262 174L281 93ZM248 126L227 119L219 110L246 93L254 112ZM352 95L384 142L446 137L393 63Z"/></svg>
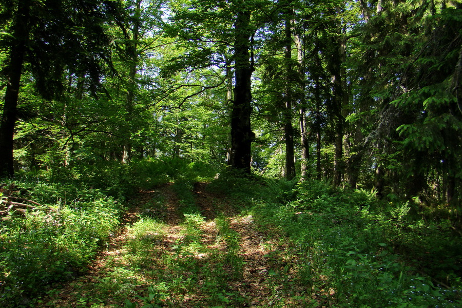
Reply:
<svg viewBox="0 0 462 308"><path fill-rule="evenodd" d="M412 202L377 200L373 190L320 181L247 177L226 169L215 176L206 164L175 159L102 164L23 174L14 182L45 208L2 221L0 306L33 306L33 298L40 302L43 292L54 292L47 285L74 279L118 225L124 200L138 188L166 182L174 182L183 219L175 243L168 251L155 248L167 241L162 220L168 213L164 197L154 194L128 230L127 253L108 261L112 267L98 282L81 286L76 306L100 306L101 297L127 308L175 306L192 294L207 298L204 304L211 307L248 300L229 288L229 281L242 276L240 236L217 212L216 245L204 244L207 221L196 204L196 182L210 182L206 189L252 217L257 229L290 244L286 257L264 257L296 262L268 269L268 276L274 290L303 286L296 298L304 307L462 305L461 239L449 220L428 219L431 213L417 213ZM276 305L279 295L272 296Z"/></svg>

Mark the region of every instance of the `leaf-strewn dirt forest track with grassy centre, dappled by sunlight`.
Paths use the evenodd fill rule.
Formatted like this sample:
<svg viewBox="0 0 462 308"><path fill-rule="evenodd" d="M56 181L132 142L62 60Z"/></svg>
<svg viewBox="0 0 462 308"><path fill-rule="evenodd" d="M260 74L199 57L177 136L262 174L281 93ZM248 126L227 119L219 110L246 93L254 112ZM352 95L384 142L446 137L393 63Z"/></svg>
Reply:
<svg viewBox="0 0 462 308"><path fill-rule="evenodd" d="M131 203L88 271L38 307L324 306L297 280L293 248L207 184L163 185Z"/></svg>

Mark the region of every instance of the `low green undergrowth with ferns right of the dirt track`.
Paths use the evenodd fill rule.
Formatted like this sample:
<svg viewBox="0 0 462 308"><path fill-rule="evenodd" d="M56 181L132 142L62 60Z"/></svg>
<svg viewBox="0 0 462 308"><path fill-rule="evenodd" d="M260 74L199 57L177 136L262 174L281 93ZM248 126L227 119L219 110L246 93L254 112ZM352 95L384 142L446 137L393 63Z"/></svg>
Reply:
<svg viewBox="0 0 462 308"><path fill-rule="evenodd" d="M460 305L460 239L449 241L449 226L408 212L374 191L316 181L302 182L295 201L255 207L260 224L281 227L298 247L300 283L332 290L324 296L338 307Z"/></svg>

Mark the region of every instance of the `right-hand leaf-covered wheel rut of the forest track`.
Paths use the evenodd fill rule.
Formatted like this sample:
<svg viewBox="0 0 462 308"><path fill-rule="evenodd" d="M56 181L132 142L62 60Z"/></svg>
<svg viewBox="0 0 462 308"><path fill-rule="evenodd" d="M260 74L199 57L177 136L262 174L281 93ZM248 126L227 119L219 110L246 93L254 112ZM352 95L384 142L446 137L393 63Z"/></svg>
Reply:
<svg viewBox="0 0 462 308"><path fill-rule="evenodd" d="M216 220L220 214L224 216L239 242L240 274L237 279L231 275L227 283L229 290L245 299L241 306L278 306L282 297L285 297L285 305L302 306L301 302L292 299L304 292L303 287L293 283L297 260L291 256L292 248L283 240L273 238L267 230L259 230L252 215L239 213L232 201L208 191L206 183L196 183L194 188L202 214L209 220ZM208 233L212 232L213 229L208 230ZM220 230L215 232L220 234Z"/></svg>

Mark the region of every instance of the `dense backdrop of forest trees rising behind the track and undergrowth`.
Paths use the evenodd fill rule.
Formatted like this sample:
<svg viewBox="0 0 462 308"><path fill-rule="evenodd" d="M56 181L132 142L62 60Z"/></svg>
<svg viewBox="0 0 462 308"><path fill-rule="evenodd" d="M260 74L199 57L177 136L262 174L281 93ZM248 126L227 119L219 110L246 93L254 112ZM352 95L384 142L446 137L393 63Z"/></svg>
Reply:
<svg viewBox="0 0 462 308"><path fill-rule="evenodd" d="M125 200L186 169L232 172L285 179L278 202L308 183L356 189L447 221L435 228L449 243L462 226L461 25L452 0L4 0L0 194Z"/></svg>

